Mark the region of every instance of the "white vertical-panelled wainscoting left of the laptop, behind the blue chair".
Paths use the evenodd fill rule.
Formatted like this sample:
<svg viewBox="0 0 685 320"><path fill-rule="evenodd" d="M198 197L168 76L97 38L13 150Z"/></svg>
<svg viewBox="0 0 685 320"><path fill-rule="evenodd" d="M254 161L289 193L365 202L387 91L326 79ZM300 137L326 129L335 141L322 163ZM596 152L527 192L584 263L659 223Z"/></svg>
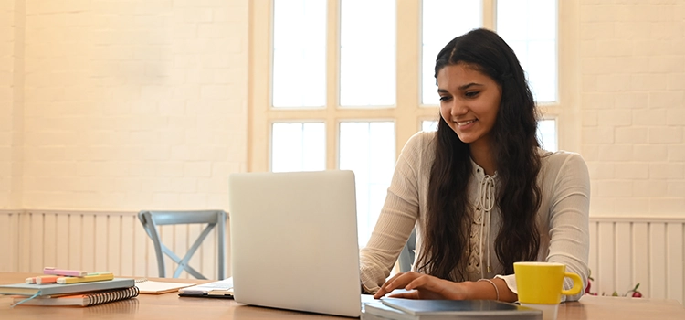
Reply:
<svg viewBox="0 0 685 320"><path fill-rule="evenodd" d="M202 229L203 225L163 226L160 234L163 243L183 257ZM0 272L42 272L43 267L58 266L159 276L153 242L142 229L137 212L0 212L0 243L0 256L10 257L0 260ZM216 278L215 247L213 230L190 261L209 278ZM166 258L166 276L172 276L174 270L175 263ZM183 272L181 277L189 276Z"/></svg>

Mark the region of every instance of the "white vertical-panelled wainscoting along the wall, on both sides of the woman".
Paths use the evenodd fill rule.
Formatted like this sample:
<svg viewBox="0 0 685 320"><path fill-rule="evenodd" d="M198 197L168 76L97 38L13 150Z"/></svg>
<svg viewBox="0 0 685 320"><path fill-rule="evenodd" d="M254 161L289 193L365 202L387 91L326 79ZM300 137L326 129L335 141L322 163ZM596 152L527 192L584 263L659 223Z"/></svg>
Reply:
<svg viewBox="0 0 685 320"><path fill-rule="evenodd" d="M165 226L163 242L184 253L201 229ZM611 294L616 290L623 294L640 283L639 291L646 297L682 303L684 234L685 218L591 218L592 292ZM41 272L45 266L59 266L140 277L158 275L152 241L135 212L0 210L0 243L0 272ZM214 243L205 240L191 261L208 277L216 277ZM168 260L166 265L167 276L171 276L174 264Z"/></svg>

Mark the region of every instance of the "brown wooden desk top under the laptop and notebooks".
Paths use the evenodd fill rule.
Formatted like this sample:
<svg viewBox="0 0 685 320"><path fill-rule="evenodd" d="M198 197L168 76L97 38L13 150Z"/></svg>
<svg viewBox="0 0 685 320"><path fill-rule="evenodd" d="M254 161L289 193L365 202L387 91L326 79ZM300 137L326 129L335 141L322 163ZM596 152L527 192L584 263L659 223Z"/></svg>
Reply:
<svg viewBox="0 0 685 320"><path fill-rule="evenodd" d="M0 272L0 284L22 283L35 273ZM163 281L163 279L154 279ZM197 283L196 280L169 279ZM315 294L315 293L312 293ZM23 305L10 308L11 299L0 295L0 319L349 319L338 316L253 307L231 299L180 298L176 293L141 294L138 298L90 307ZM565 319L685 319L685 308L674 300L585 296L580 302L559 306Z"/></svg>

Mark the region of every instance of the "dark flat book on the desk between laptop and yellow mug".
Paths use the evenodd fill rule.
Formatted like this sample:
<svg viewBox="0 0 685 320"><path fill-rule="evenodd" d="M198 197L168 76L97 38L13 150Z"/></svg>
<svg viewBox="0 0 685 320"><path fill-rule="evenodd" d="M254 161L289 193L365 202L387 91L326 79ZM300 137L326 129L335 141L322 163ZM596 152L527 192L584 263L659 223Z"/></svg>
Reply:
<svg viewBox="0 0 685 320"><path fill-rule="evenodd" d="M362 320L543 319L543 312L493 300L382 298L364 304Z"/></svg>

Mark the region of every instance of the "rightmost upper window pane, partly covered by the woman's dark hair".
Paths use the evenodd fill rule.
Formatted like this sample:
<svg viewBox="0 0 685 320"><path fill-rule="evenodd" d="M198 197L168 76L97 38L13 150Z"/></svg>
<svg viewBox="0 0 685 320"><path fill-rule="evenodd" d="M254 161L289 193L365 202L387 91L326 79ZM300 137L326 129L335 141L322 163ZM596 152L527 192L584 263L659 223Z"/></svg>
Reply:
<svg viewBox="0 0 685 320"><path fill-rule="evenodd" d="M556 1L497 1L497 32L516 52L538 102L557 100L556 16Z"/></svg>

